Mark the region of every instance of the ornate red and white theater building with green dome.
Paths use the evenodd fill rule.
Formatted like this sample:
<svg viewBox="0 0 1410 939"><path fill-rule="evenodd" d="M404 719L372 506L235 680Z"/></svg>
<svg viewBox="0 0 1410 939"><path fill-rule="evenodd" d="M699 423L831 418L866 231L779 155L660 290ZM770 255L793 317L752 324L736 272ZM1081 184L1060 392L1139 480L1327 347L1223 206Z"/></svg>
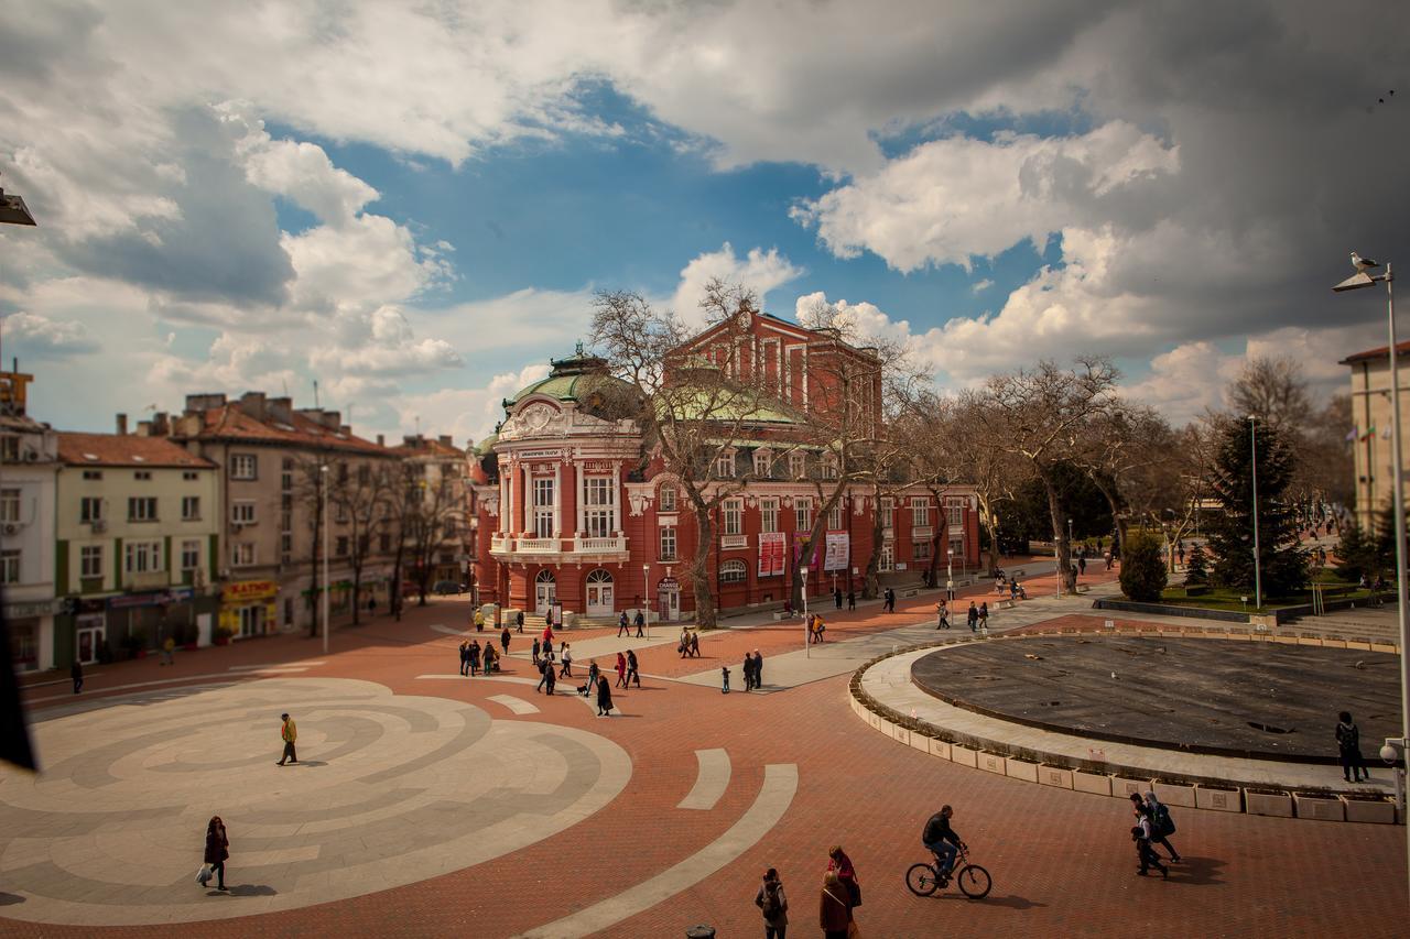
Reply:
<svg viewBox="0 0 1410 939"><path fill-rule="evenodd" d="M730 458L716 465L715 478L732 477L742 486L716 512L716 602L722 610L781 606L792 587L790 553L807 539L819 503L815 479L828 478L821 448L798 443L797 415L807 413L809 398L826 399L819 382L826 381L828 357L869 352L760 313L730 333L730 354L721 329L697 336L684 351L704 354L740 381L761 382L781 406L753 413ZM694 557L697 533L680 481L649 458L632 420L592 413L589 386L602 381L602 360L584 357L580 347L577 357L551 365L547 378L505 400L495 436L470 454L478 599L530 613L547 613L557 601L580 616L613 618L649 598L653 622L689 615L694 591L682 561ZM878 419L880 381L862 395ZM830 491L826 482L823 491ZM862 484L838 501L809 565L809 596L833 587L860 592L876 502ZM914 485L880 502L890 516L880 557L884 585L919 582L936 551L942 582L946 551L956 571L979 564L970 488L946 486L938 499Z"/></svg>

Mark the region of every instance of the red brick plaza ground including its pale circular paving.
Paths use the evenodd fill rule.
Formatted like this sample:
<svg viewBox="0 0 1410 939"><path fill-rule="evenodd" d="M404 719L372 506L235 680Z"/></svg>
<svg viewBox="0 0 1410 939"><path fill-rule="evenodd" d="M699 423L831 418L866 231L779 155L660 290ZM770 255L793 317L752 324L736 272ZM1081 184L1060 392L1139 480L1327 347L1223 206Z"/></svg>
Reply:
<svg viewBox="0 0 1410 939"><path fill-rule="evenodd" d="M878 654L880 633L929 625L931 595L895 615L829 609L836 642L812 658L797 620L743 620L705 636L698 660L654 627L633 642L644 687L618 691L606 719L575 681L534 694L529 634L503 675L460 678L450 632L467 609L378 616L337 632L329 656L281 636L175 668L97 668L80 696L31 685L45 771L0 774L0 933L186 936L199 921L212 936L682 936L694 923L750 936L773 866L791 935L808 936L840 843L869 936L1404 935L1403 828L1176 809L1184 861L1169 881L1141 878L1118 799L871 730L849 706L853 660ZM615 630L567 639L575 671L622 647ZM768 694L746 695L739 661L756 647ZM275 766L281 711L299 722L298 766ZM984 901L905 888L942 802L993 874ZM210 815L228 826L228 894L193 883Z"/></svg>

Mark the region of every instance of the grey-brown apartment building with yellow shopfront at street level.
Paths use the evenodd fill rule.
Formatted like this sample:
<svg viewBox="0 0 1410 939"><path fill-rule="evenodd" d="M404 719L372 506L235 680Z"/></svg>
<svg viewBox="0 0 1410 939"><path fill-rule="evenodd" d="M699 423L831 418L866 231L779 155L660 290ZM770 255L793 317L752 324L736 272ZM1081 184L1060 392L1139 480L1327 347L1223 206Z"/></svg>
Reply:
<svg viewBox="0 0 1410 939"><path fill-rule="evenodd" d="M314 622L324 496L333 613L385 609L395 550L378 486L398 457L381 441L352 434L336 410L262 392L188 395L179 416L157 413L137 433L219 468L220 623L235 637Z"/></svg>

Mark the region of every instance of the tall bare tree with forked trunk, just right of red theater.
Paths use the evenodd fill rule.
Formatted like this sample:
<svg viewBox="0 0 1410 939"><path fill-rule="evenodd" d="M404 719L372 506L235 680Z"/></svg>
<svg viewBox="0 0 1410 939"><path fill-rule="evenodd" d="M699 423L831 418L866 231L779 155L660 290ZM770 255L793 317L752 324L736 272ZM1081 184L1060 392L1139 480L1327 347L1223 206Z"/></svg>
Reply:
<svg viewBox="0 0 1410 939"><path fill-rule="evenodd" d="M984 383L986 405L998 447L1021 457L1048 495L1058 572L1076 589L1065 515L1059 503L1055 467L1069 460L1090 422L1107 413L1115 396L1117 368L1100 357L1079 358L1073 368L1049 361L1034 369L993 375Z"/></svg>

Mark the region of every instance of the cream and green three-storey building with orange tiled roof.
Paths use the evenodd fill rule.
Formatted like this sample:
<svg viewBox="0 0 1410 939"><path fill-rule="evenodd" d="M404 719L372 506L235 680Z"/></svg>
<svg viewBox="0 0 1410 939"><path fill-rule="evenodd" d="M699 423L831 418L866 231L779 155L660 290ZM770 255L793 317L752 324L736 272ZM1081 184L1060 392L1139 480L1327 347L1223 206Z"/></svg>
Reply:
<svg viewBox="0 0 1410 939"><path fill-rule="evenodd" d="M118 430L56 434L55 667L214 634L216 465Z"/></svg>

